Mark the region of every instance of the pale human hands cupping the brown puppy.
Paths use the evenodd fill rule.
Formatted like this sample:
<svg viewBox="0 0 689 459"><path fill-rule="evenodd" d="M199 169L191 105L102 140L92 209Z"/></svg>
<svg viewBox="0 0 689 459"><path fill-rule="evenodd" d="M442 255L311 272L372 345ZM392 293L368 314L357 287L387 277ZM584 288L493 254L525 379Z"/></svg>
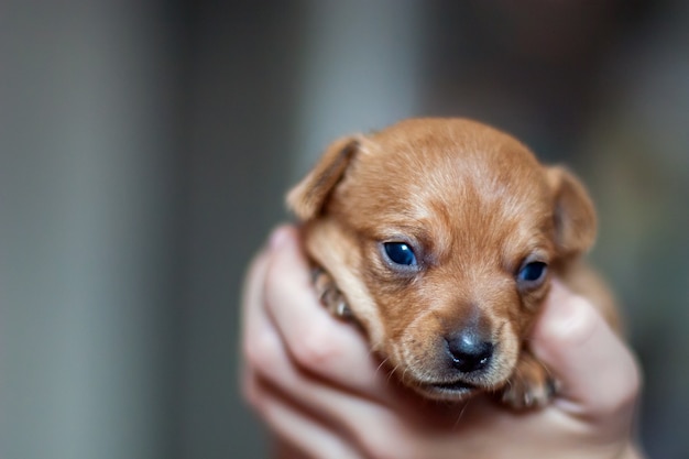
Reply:
<svg viewBox="0 0 689 459"><path fill-rule="evenodd" d="M428 402L400 386L352 324L318 302L292 227L278 228L244 285L244 397L285 458L642 458L638 364L594 307L555 281L531 339L560 383L516 413L489 396ZM300 451L300 452L297 452Z"/></svg>

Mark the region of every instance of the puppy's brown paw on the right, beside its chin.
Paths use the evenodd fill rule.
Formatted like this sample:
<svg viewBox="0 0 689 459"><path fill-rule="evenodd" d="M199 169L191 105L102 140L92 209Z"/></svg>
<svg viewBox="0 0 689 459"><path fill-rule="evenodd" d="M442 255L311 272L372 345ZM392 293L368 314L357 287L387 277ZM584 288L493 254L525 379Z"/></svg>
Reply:
<svg viewBox="0 0 689 459"><path fill-rule="evenodd" d="M550 403L557 385L543 363L524 353L502 390L501 401L513 409L542 408Z"/></svg>

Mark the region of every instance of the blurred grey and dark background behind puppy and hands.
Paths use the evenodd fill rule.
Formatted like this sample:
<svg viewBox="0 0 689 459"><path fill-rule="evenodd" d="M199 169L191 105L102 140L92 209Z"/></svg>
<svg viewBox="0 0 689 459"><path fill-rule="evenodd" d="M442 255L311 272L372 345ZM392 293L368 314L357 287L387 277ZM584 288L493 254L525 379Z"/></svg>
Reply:
<svg viewBox="0 0 689 459"><path fill-rule="evenodd" d="M688 56L681 0L0 3L0 457L266 457L247 263L330 140L436 114L588 184L641 438L688 458Z"/></svg>

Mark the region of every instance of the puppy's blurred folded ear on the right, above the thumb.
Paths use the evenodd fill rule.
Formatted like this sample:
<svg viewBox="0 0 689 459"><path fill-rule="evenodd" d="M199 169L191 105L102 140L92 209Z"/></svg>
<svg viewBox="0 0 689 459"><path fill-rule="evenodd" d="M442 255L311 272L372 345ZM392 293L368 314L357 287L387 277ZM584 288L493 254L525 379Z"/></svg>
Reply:
<svg viewBox="0 0 689 459"><path fill-rule="evenodd" d="M555 243L562 256L577 255L593 245L595 209L586 188L562 167L549 167L548 182L555 197Z"/></svg>

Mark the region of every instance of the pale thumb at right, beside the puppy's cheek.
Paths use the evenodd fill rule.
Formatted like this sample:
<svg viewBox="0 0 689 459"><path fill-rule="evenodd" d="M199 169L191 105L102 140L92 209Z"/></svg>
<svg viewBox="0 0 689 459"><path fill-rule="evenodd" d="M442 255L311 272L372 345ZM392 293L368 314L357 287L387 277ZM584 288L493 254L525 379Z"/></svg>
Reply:
<svg viewBox="0 0 689 459"><path fill-rule="evenodd" d="M632 352L589 300L560 283L536 326L534 352L561 383L567 409L601 418L633 409L641 378Z"/></svg>

